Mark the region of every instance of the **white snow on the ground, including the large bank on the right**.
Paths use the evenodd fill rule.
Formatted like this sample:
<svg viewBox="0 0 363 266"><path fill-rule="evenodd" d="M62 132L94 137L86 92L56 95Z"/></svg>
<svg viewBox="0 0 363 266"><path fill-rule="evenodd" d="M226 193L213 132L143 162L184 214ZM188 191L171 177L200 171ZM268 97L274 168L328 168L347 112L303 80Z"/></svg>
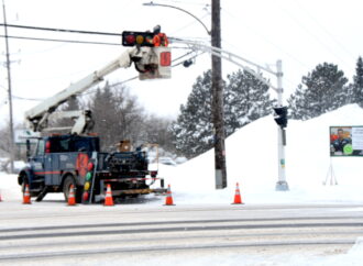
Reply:
<svg viewBox="0 0 363 266"><path fill-rule="evenodd" d="M355 104L345 106L309 121L289 121L286 146L288 191L275 191L277 129L272 115L244 126L227 140L227 189L215 189L213 151L183 165L160 165L160 176L172 186L174 202L177 206L230 204L237 182L240 184L242 200L246 204L363 203L363 157L331 158L329 156L329 126L362 124L363 109ZM328 175L330 166L333 167L338 185L330 184ZM328 182L324 186L326 180ZM0 173L0 193L3 201L21 200L15 175ZM62 199L63 196L50 195L45 200L54 198ZM148 202L148 204L160 203L160 201ZM219 258L200 257L200 259L197 265L206 265L208 259L216 262ZM228 265L232 265L233 262L239 264L239 259L253 258L232 254L228 256L227 262ZM348 254L337 255L333 258L330 256L308 261L292 259L282 259L280 265L362 265L363 244L359 241Z"/></svg>

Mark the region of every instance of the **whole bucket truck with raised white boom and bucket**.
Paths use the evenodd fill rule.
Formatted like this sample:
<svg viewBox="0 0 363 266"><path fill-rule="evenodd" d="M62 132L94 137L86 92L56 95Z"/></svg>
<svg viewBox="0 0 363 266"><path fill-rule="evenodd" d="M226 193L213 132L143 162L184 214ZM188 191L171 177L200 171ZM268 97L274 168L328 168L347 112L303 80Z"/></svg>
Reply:
<svg viewBox="0 0 363 266"><path fill-rule="evenodd" d="M56 111L72 97L102 81L106 75L128 68L132 63L143 77L169 78L170 62L165 58L170 58L168 47L132 47L101 69L29 110L25 113L28 126L34 132L50 134L38 137L34 154L29 154L29 165L18 177L22 189L28 185L37 201L48 192L63 192L67 200L73 185L77 202L84 203L105 199L107 185L111 185L113 197L165 192L163 179L160 179L161 188L151 189L157 171L148 170L147 156L141 147L131 151L130 143L122 141L118 152L103 153L99 137L88 134L94 125L90 110ZM59 118L72 118L75 123L67 128L48 126L50 120ZM52 134L57 130L69 130L69 134Z"/></svg>

